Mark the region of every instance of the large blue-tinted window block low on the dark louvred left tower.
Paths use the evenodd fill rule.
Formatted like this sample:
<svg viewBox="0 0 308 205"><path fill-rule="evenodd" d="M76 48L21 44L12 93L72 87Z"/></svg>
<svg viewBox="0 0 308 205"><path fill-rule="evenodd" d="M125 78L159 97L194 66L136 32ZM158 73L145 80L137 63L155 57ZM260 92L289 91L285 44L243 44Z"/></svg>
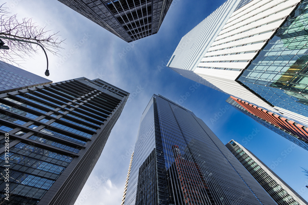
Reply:
<svg viewBox="0 0 308 205"><path fill-rule="evenodd" d="M11 194L41 199L73 158L18 143L10 148L9 159ZM0 157L0 166L4 167L6 164L3 153ZM3 169L0 175L1 187L5 187L4 175ZM12 203L14 204L14 199Z"/></svg>

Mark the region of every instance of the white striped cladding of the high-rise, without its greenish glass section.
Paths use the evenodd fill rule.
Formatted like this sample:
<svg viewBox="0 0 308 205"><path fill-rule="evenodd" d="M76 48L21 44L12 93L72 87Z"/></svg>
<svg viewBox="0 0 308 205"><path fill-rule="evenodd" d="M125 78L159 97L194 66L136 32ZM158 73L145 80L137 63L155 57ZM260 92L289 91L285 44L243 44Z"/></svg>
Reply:
<svg viewBox="0 0 308 205"><path fill-rule="evenodd" d="M300 0L229 0L182 37L167 66L182 76L308 126L236 81Z"/></svg>

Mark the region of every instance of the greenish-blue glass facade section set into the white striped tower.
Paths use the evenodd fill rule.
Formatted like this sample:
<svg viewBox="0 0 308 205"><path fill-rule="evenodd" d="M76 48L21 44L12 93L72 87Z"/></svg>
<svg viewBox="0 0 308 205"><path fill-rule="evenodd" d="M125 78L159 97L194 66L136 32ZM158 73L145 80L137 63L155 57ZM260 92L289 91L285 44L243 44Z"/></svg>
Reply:
<svg viewBox="0 0 308 205"><path fill-rule="evenodd" d="M274 106L306 117L307 23L308 1L303 0L238 78L238 81Z"/></svg>

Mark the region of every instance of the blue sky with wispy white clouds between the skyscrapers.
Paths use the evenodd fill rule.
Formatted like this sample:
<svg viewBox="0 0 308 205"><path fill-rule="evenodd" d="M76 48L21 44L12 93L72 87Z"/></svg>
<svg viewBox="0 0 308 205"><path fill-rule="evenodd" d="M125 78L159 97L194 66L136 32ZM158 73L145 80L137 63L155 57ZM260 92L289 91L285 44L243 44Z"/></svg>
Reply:
<svg viewBox="0 0 308 205"><path fill-rule="evenodd" d="M6 7L17 13L18 18L33 18L48 30L60 31L61 38L66 39L62 56L47 53L48 79L58 82L78 77L100 78L131 93L75 205L121 203L140 117L154 93L192 110L224 144L234 139L267 166L273 165L273 171L308 200L308 179L300 168L308 168L308 151L294 148L290 141L231 106L217 121L211 120L225 109L229 96L204 85L197 86L164 66L181 37L223 2L173 0L158 34L127 43L56 0L7 1ZM45 56L35 55L22 66L44 77ZM255 130L257 135L253 139L243 141ZM287 153L283 153L285 150ZM275 165L278 158L282 161Z"/></svg>

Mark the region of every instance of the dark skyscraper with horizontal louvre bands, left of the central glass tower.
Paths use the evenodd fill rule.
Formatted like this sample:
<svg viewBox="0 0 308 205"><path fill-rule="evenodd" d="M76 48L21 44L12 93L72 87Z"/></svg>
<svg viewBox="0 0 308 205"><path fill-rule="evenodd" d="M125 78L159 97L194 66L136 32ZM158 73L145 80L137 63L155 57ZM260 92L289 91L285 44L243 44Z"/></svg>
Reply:
<svg viewBox="0 0 308 205"><path fill-rule="evenodd" d="M74 204L128 95L84 77L1 94L2 198L8 167L10 204Z"/></svg>

